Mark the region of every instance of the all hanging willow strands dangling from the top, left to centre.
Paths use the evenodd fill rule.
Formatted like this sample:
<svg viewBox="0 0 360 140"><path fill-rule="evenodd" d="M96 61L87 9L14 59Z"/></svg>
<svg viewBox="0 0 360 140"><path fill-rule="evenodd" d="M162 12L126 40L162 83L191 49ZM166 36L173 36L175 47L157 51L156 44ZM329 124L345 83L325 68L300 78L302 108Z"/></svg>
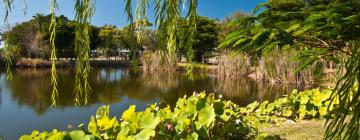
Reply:
<svg viewBox="0 0 360 140"><path fill-rule="evenodd" d="M4 23L7 25L7 19L11 12L12 4L14 0L3 0L5 18ZM154 6L150 7L149 3L152 2ZM132 4L133 0L125 0L125 12L128 16L130 23L129 34L131 36L131 57L134 65L137 64L137 47L136 41L141 41L144 31L148 27L148 9L153 8L155 11L155 25L160 32L159 36L164 36L165 39L161 40L166 44L166 49L163 50L163 56L167 57L173 64L175 63L175 53L177 46L177 40L179 39L176 34L177 22L185 14L189 23L189 30L186 32L187 37L184 39L188 50L188 58L193 56L192 44L193 37L196 32L196 15L197 15L197 0L137 0L135 17L133 15ZM58 80L56 74L56 11L57 0L50 0L50 49L51 49L51 100L53 106L56 105L58 100ZM88 77L91 70L90 67L90 32L91 32L91 18L95 11L93 0L75 0L74 5L75 21L77 23L75 29L75 49L76 54L76 75L75 75L75 89L74 89L74 102L76 105L86 105L88 97L91 92ZM26 0L24 0L24 13L26 13ZM135 19L135 20L134 20ZM5 38L6 39L6 38ZM5 40L6 41L6 40ZM11 46L5 44L5 60L8 78L11 78ZM191 59L188 59L191 60Z"/></svg>

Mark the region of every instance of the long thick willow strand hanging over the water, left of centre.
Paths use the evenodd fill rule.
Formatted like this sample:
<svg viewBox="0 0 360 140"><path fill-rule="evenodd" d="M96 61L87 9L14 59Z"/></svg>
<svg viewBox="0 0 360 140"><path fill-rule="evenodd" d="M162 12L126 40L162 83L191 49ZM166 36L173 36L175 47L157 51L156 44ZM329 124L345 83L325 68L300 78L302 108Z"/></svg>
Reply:
<svg viewBox="0 0 360 140"><path fill-rule="evenodd" d="M76 54L76 75L75 75L75 104L86 105L90 94L88 81L90 72L90 23L94 13L92 0L76 0L75 3L75 54ZM81 102L83 100L83 102Z"/></svg>

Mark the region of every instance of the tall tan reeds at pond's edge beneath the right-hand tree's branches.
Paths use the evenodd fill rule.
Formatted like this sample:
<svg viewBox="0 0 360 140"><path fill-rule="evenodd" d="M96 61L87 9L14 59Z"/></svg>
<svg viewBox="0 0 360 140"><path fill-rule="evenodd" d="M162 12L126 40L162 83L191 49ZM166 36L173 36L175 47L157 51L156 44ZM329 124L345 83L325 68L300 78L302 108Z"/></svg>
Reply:
<svg viewBox="0 0 360 140"><path fill-rule="evenodd" d="M335 64L318 61L299 70L304 62L295 59L297 53L296 50L277 49L255 60L245 53L226 51L219 55L217 72L223 77L247 76L272 84L314 85L335 81L338 69Z"/></svg>

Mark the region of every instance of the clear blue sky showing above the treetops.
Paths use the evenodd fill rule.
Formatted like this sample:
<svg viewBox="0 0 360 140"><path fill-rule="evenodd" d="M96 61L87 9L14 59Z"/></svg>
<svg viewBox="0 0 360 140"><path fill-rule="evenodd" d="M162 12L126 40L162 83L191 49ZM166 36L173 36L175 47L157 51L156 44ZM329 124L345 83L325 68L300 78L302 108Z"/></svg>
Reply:
<svg viewBox="0 0 360 140"><path fill-rule="evenodd" d="M26 0L27 14L24 15L24 0L15 0L14 7L9 15L9 23L15 24L31 19L35 13L49 13L49 0ZM106 1L106 2L103 2ZM199 0L199 15L211 18L223 19L235 11L251 12L259 3L266 0ZM70 19L74 17L74 0L58 0L58 14L63 14ZM4 6L1 2L0 7L0 28L3 26ZM96 0L96 13L92 19L92 24L102 26L112 24L118 27L127 25L126 15L124 14L124 0ZM151 16L151 14L149 15ZM150 18L151 20L151 18Z"/></svg>

